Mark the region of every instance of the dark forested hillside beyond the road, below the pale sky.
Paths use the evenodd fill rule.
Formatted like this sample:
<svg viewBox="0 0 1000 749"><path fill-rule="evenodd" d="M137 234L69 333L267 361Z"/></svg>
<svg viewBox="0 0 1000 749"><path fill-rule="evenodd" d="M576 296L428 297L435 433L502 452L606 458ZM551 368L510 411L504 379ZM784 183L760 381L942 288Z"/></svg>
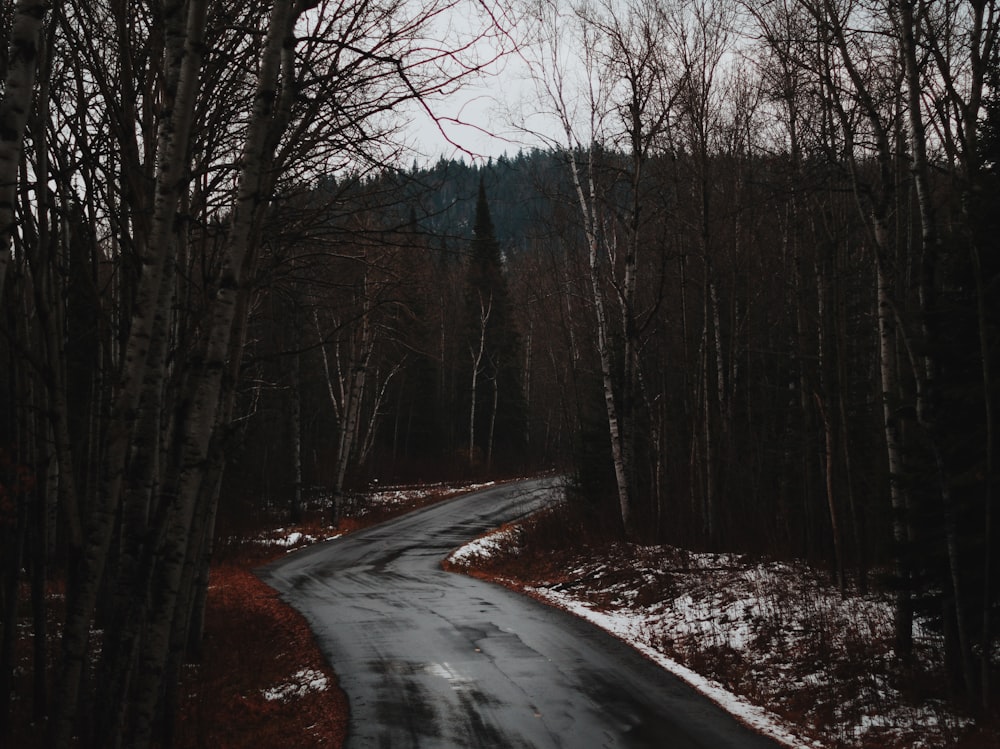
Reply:
<svg viewBox="0 0 1000 749"><path fill-rule="evenodd" d="M879 178L875 160L859 160L852 176L852 165L818 154L796 164L752 140L737 145L701 162L680 149L650 158L638 194L623 182L631 175L621 152L575 154L594 175L607 252L595 276L612 401L632 451L630 529L617 494L587 236L567 179L570 157L554 151L440 163L344 188L383 200L398 194L386 192L387 182L418 192L373 210L371 233L354 250L365 274L356 283L367 293L310 290L302 281L296 304L305 312L276 307L260 318L260 361L248 363L260 374L245 393L255 417L235 458L249 483L229 486L246 494L270 481L273 497L290 496L295 433L305 486L556 467L576 477L576 501L595 522L610 518L634 540L806 558L841 584L898 585L904 620L920 614L946 624L944 612L955 611L942 591L958 573L968 586L967 624L982 636L982 596L989 590L992 605L994 593L992 583L983 588L992 562L980 344L994 350L997 310L985 295L980 307L976 289L989 283L979 273L996 269L977 271L962 257L960 196L950 193L954 185L937 187L941 225L951 228L935 276L940 332L926 348L913 283L916 201L897 197L892 242L880 248L855 185ZM629 225L632 201L644 210ZM491 233L481 227L484 212L503 217ZM977 220L992 252L992 216ZM629 231L637 252L626 307ZM477 280L484 233L501 251L497 299L508 300L492 311ZM335 262L345 262L337 252ZM307 267L303 276L323 277ZM338 304L345 308L334 312ZM990 326L982 340L980 314ZM326 328L316 323L325 315ZM302 319L314 324L305 340L293 337ZM492 325L509 336L503 355L482 335ZM626 330L634 336L631 383L622 381ZM289 367L293 340L298 361ZM363 368L356 352L370 356ZM921 402L931 383L922 366L912 369L931 354L939 362L937 446ZM332 446L344 439L350 375L362 371L359 447L345 485L336 468L344 453ZM296 414L309 415L298 428ZM275 434L288 437L265 439ZM899 461L895 469L890 460ZM945 483L943 470L955 471Z"/></svg>

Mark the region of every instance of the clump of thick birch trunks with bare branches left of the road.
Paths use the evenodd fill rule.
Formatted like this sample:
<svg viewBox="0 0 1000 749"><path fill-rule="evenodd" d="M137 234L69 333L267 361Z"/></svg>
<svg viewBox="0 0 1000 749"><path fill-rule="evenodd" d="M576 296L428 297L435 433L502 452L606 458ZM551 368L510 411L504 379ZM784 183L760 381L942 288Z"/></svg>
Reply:
<svg viewBox="0 0 1000 749"><path fill-rule="evenodd" d="M12 9L0 287L11 288L6 269L16 267L8 312L27 314L5 351L26 363L12 402L32 402L49 424L18 428L5 415L4 436L9 422L19 444L51 439L41 492L64 522L44 530L42 514L32 530L48 540L68 529L71 559L50 745L74 735L147 745L154 716L168 715L176 646L196 629L204 598L273 196L318 171L400 153L394 110L452 90L484 64L435 39L451 7L107 0ZM4 562L5 572L18 563ZM105 637L94 652L98 619Z"/></svg>

